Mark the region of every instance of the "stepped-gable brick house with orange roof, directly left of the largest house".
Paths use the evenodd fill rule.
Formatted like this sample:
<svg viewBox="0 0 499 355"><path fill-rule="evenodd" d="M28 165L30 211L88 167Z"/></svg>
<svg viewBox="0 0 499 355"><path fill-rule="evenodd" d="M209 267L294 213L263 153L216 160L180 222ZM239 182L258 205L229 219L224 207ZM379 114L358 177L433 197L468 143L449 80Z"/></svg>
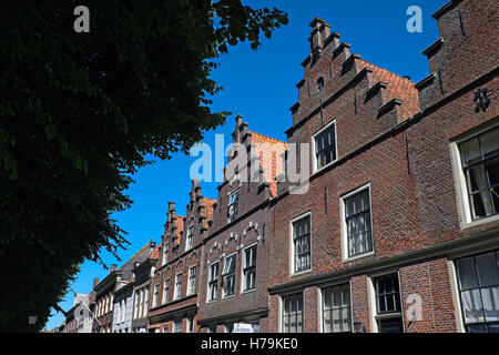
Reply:
<svg viewBox="0 0 499 355"><path fill-rule="evenodd" d="M269 202L277 193L275 178L281 174L281 165L276 162L286 145L247 126L242 116L236 116L232 135L233 143L241 144L240 155L228 159L210 234L204 240L198 300L202 332L233 332L238 323L251 325L255 332L268 328ZM254 156L244 158L243 152L252 151ZM230 171L237 156L243 161ZM249 179L252 164L256 166L254 180Z"/></svg>

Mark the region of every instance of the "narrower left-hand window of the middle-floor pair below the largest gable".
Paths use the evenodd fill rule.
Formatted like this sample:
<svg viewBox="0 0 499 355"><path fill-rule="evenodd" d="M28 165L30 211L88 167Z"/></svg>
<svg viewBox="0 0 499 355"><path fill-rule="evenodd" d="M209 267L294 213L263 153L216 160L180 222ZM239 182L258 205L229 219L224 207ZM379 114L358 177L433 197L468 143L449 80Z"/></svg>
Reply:
<svg viewBox="0 0 499 355"><path fill-rule="evenodd" d="M310 257L310 215L293 222L294 272L309 270Z"/></svg>

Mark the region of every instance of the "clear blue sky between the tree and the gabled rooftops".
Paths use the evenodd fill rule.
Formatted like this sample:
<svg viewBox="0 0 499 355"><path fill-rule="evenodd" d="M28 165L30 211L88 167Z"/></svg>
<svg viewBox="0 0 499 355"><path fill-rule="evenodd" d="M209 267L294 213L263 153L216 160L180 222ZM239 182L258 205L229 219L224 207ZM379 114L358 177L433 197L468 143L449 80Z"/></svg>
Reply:
<svg viewBox="0 0 499 355"><path fill-rule="evenodd" d="M428 74L427 60L421 51L438 38L436 21L431 13L447 0L385 0L385 1L246 1L252 7L277 7L288 12L289 23L277 29L272 39L263 37L263 45L253 51L248 43L230 48L228 54L220 58L220 67L212 78L223 87L213 98L212 110L233 113L216 131L205 134L204 142L214 146L214 135L225 134L225 145L231 143L235 114L242 114L249 130L286 140L284 131L292 124L288 109L297 100L295 84L303 79L301 62L309 53L308 23L316 16L332 26L332 31L342 34L340 41L352 44L350 51L367 61L400 75L409 75L418 82ZM422 32L409 33L406 22L410 18L407 8L419 6L422 10ZM119 251L121 262L103 251L103 261L121 265L151 239L159 243L166 220L167 202L176 202L176 213L184 215L191 190L190 166L196 158L183 153L169 161L140 170L135 183L128 194L134 201L131 209L115 214L119 225L125 230L131 245ZM202 194L216 199L218 183L202 183ZM101 265L85 262L71 287L78 293L89 293L93 277L102 280L109 271ZM61 306L72 307L70 292ZM64 317L52 311L47 329L59 326Z"/></svg>

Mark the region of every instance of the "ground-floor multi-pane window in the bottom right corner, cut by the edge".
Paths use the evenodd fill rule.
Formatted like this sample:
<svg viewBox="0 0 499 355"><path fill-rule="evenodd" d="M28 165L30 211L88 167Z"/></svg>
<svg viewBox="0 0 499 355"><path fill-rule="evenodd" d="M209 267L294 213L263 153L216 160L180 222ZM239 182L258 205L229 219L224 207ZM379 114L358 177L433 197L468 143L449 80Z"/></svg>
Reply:
<svg viewBox="0 0 499 355"><path fill-rule="evenodd" d="M462 318L469 333L499 333L499 251L456 261Z"/></svg>

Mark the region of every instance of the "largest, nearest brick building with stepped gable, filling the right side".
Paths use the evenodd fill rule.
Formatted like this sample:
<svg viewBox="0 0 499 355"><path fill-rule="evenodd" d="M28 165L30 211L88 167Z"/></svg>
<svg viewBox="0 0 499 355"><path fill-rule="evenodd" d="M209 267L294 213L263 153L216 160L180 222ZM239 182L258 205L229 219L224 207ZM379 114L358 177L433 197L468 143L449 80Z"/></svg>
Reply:
<svg viewBox="0 0 499 355"><path fill-rule="evenodd" d="M440 38L417 84L310 23L286 131L310 143L310 182L273 200L268 331L498 332L493 8L434 13Z"/></svg>

